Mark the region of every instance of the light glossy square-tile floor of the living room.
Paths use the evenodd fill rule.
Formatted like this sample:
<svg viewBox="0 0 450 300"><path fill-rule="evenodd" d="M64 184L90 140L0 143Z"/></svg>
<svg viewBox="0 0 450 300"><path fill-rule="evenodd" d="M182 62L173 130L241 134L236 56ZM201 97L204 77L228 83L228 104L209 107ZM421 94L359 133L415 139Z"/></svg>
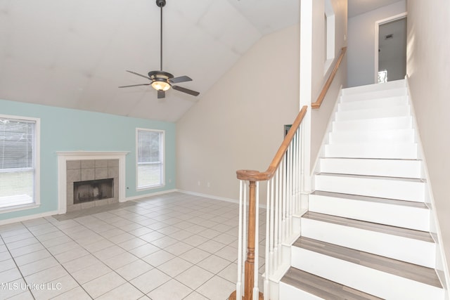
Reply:
<svg viewBox="0 0 450 300"><path fill-rule="evenodd" d="M0 226L0 299L224 300L237 234L237 204L183 193Z"/></svg>

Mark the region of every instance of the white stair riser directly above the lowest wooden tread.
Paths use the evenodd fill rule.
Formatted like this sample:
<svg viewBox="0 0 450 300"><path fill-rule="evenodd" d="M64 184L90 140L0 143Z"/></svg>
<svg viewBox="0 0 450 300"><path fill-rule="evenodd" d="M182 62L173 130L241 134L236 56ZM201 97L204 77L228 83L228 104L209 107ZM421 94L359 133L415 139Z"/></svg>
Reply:
<svg viewBox="0 0 450 300"><path fill-rule="evenodd" d="M444 299L444 289L293 247L295 268L383 299Z"/></svg>

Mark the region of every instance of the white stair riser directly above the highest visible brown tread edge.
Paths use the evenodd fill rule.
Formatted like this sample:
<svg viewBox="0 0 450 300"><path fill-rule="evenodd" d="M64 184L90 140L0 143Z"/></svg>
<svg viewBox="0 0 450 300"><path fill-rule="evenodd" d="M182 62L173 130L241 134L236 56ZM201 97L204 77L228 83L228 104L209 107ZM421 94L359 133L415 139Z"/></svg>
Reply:
<svg viewBox="0 0 450 300"><path fill-rule="evenodd" d="M416 143L345 143L325 145L326 157L418 159Z"/></svg>

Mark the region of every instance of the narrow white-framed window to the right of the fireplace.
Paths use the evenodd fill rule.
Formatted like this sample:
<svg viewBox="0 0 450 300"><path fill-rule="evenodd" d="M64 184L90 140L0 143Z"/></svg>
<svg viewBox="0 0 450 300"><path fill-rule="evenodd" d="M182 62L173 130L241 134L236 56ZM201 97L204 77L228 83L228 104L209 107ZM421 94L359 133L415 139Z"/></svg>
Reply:
<svg viewBox="0 0 450 300"><path fill-rule="evenodd" d="M136 129L137 188L164 185L164 131Z"/></svg>

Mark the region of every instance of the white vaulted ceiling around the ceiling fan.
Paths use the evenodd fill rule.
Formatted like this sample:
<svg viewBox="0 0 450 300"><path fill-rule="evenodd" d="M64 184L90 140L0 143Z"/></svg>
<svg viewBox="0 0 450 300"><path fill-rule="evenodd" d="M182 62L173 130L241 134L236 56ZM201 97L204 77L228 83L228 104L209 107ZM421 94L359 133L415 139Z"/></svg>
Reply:
<svg viewBox="0 0 450 300"><path fill-rule="evenodd" d="M150 86L117 87L148 83L125 70L160 69L155 0L0 0L0 99L174 122L264 34L299 22L299 11L299 0L167 0L162 68L191 77L178 85L200 96L169 90L158 99Z"/></svg>

